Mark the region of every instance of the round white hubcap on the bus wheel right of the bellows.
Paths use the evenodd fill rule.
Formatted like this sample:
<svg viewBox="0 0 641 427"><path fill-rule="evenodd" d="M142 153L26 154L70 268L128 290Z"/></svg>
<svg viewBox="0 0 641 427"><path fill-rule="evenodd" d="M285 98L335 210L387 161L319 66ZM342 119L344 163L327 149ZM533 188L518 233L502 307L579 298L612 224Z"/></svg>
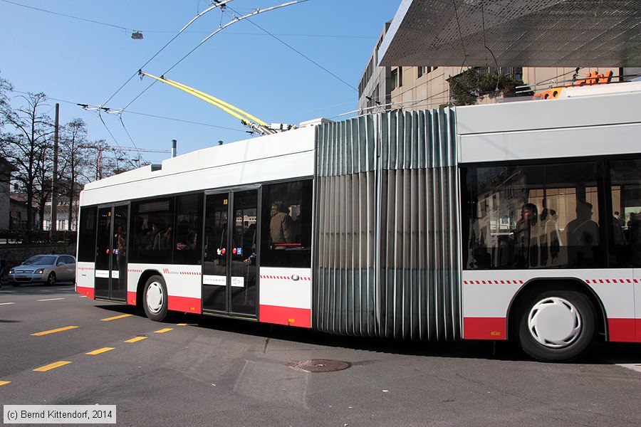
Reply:
<svg viewBox="0 0 641 427"><path fill-rule="evenodd" d="M559 349L575 342L583 324L576 307L561 297L537 302L528 315L528 330L540 344Z"/></svg>

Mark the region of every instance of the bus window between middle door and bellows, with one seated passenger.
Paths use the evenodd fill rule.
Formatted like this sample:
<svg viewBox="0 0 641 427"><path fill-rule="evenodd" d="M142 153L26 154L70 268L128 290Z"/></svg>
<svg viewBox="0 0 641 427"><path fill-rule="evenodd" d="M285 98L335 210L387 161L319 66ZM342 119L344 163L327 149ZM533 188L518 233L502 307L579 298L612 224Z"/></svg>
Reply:
<svg viewBox="0 0 641 427"><path fill-rule="evenodd" d="M310 267L312 180L263 186L261 265Z"/></svg>

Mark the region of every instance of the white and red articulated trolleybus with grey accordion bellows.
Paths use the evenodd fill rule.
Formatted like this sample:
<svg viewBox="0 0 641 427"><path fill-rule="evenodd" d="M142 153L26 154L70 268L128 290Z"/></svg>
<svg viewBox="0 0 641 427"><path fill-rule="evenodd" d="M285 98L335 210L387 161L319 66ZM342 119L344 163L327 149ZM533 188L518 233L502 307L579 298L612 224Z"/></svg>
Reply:
<svg viewBox="0 0 641 427"><path fill-rule="evenodd" d="M543 361L641 342L640 85L320 120L87 184L77 290Z"/></svg>

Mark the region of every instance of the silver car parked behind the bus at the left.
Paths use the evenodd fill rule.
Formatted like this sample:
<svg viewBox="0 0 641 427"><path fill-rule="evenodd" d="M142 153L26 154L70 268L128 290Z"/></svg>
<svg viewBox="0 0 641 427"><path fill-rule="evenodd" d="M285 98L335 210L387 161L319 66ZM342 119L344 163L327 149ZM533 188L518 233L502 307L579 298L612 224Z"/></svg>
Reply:
<svg viewBox="0 0 641 427"><path fill-rule="evenodd" d="M7 280L14 286L22 283L68 282L75 280L75 258L71 255L33 255L11 268Z"/></svg>

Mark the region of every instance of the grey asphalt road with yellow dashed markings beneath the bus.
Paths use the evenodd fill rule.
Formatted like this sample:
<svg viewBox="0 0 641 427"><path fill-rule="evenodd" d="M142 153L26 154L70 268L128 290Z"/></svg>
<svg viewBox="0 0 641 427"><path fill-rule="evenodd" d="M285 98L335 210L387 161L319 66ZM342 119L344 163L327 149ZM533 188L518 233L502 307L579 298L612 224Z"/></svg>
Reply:
<svg viewBox="0 0 641 427"><path fill-rule="evenodd" d="M598 344L579 363L543 364L506 342L133 314L73 285L2 288L0 384L11 382L0 386L0 404L116 405L120 426L641 425L639 344ZM351 366L288 367L310 359ZM54 362L71 363L34 371Z"/></svg>

